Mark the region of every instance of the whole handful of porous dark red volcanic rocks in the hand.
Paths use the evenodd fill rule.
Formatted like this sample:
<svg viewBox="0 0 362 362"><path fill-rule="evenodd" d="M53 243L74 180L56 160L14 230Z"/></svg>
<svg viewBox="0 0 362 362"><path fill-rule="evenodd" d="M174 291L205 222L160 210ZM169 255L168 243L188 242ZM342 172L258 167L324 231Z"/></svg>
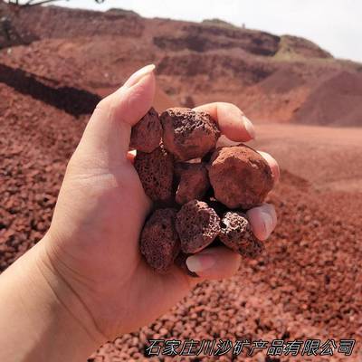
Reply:
<svg viewBox="0 0 362 362"><path fill-rule="evenodd" d="M157 272L174 263L187 271L187 256L211 244L247 257L262 252L244 213L271 191L271 169L243 144L216 148L220 136L209 114L183 108L151 109L132 129L135 168L154 202L140 251Z"/></svg>

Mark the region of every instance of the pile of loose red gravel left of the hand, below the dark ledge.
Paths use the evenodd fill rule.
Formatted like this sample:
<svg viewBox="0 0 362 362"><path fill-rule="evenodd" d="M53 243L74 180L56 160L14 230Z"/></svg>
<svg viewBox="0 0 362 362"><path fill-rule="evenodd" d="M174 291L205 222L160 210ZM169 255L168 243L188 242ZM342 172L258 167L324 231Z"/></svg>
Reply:
<svg viewBox="0 0 362 362"><path fill-rule="evenodd" d="M0 83L0 271L49 227L84 124Z"/></svg>

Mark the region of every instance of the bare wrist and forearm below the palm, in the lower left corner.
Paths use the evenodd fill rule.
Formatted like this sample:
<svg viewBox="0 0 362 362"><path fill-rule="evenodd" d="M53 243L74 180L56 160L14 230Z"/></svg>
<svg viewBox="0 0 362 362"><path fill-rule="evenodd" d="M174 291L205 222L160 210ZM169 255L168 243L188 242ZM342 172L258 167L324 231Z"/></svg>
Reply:
<svg viewBox="0 0 362 362"><path fill-rule="evenodd" d="M0 360L85 360L105 341L76 292L53 268L43 247L46 238L0 276L0 327L16 336L0 337Z"/></svg>

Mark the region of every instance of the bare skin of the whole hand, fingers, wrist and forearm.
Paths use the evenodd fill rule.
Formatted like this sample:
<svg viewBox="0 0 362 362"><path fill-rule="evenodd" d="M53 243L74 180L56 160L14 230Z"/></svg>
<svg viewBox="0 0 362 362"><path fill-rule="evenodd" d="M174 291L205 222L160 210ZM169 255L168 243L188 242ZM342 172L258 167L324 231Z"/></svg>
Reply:
<svg viewBox="0 0 362 362"><path fill-rule="evenodd" d="M198 279L177 267L159 275L138 251L150 201L132 165L129 138L152 105L153 70L141 69L100 101L68 164L49 231L0 276L0 329L7 330L0 334L0 360L85 360L105 341L157 319L197 282L237 271L240 256L224 247L187 260ZM233 104L197 110L210 112L234 141L253 137ZM278 165L264 157L276 181ZM272 205L251 210L249 219L261 240L276 224Z"/></svg>

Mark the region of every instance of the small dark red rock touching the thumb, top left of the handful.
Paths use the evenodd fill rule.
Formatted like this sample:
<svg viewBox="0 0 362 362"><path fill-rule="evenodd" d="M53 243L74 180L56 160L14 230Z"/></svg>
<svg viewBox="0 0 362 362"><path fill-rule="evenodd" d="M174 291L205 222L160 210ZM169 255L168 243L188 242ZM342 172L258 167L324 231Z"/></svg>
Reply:
<svg viewBox="0 0 362 362"><path fill-rule="evenodd" d="M157 111L152 107L145 116L132 127L130 148L150 153L159 146L162 137L161 122Z"/></svg>

